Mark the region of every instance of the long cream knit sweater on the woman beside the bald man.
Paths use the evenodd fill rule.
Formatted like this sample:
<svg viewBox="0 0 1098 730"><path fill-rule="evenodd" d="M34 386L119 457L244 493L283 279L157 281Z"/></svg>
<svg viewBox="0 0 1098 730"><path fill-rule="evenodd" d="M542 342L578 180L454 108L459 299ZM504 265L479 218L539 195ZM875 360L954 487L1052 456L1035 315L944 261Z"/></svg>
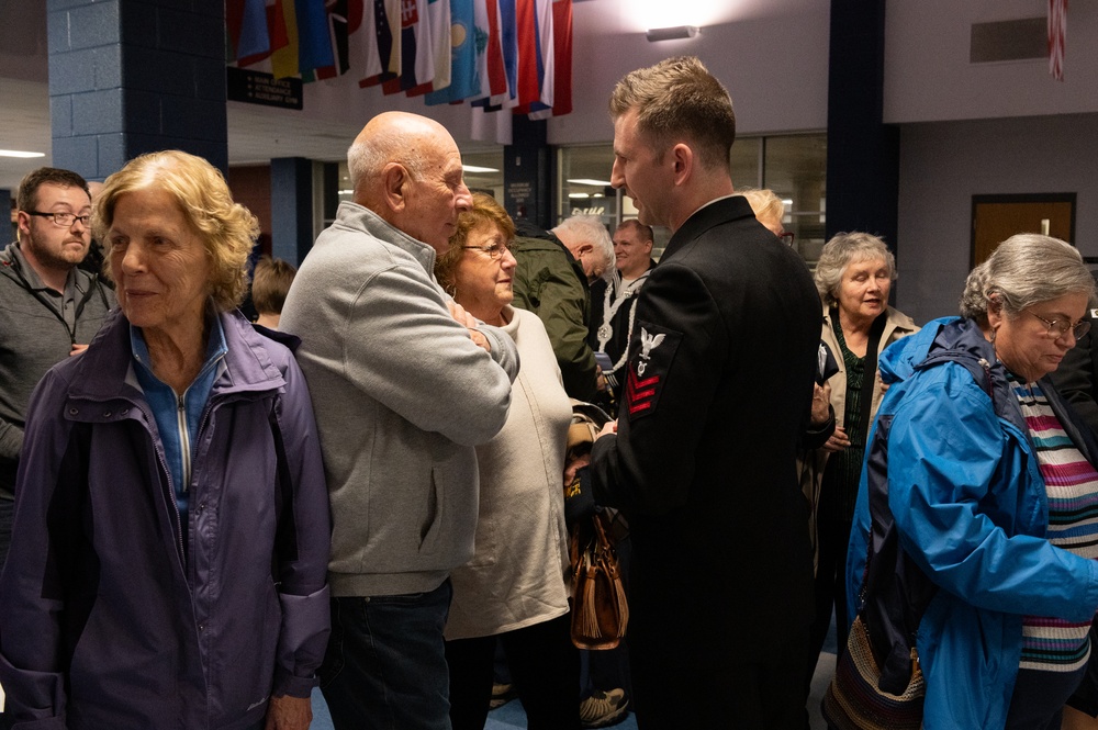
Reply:
<svg viewBox="0 0 1098 730"><path fill-rule="evenodd" d="M505 307L522 368L503 430L477 447L477 552L450 573L447 639L512 631L568 613L562 472L572 408L545 326Z"/></svg>

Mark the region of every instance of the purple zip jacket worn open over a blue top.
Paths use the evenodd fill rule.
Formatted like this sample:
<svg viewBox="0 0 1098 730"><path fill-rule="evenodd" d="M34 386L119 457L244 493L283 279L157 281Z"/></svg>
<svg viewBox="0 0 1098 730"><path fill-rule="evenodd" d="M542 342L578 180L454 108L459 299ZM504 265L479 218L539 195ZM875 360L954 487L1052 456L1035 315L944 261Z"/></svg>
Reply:
<svg viewBox="0 0 1098 730"><path fill-rule="evenodd" d="M315 683L330 521L309 392L287 347L220 316L228 351L194 446L186 557L125 317L34 392L0 576L18 728L245 728L272 693Z"/></svg>

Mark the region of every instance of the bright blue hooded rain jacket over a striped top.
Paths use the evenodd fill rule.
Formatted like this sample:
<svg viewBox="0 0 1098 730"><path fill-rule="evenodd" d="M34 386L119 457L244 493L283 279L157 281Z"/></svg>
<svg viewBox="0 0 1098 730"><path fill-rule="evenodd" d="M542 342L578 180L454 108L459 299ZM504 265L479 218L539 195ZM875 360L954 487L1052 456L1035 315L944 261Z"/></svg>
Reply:
<svg viewBox="0 0 1098 730"><path fill-rule="evenodd" d="M1007 417L996 415L988 391L960 362L917 370L944 349L990 363L991 392ZM890 429L888 507L900 546L939 586L917 633L927 682L923 727L996 730L1005 725L1018 673L1022 616L1093 618L1098 562L1044 538L1049 504L1037 457L1005 369L975 323L931 322L885 350L881 369L892 388L870 442L878 428ZM1046 381L1041 388L1094 463L1093 438ZM871 449L848 552L852 611L865 568L873 458Z"/></svg>

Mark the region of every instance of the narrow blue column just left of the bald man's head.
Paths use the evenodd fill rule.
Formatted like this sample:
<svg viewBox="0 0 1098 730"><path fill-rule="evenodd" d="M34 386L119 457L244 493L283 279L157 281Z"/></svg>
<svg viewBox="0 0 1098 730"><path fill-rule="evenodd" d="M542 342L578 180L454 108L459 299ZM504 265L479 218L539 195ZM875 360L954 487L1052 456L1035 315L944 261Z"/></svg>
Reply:
<svg viewBox="0 0 1098 730"><path fill-rule="evenodd" d="M271 159L271 255L301 266L313 247L313 162Z"/></svg>

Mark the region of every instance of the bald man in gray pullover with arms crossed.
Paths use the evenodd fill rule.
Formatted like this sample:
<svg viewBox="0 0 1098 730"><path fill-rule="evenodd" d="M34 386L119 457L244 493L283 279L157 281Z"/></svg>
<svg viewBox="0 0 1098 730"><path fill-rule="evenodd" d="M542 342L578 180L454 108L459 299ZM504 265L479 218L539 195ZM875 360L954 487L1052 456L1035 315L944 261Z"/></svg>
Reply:
<svg viewBox="0 0 1098 730"><path fill-rule="evenodd" d="M332 639L321 684L337 730L449 728L449 572L473 554L473 447L503 427L514 341L432 271L472 198L437 122L386 112L347 154L339 205L290 288L332 499Z"/></svg>

